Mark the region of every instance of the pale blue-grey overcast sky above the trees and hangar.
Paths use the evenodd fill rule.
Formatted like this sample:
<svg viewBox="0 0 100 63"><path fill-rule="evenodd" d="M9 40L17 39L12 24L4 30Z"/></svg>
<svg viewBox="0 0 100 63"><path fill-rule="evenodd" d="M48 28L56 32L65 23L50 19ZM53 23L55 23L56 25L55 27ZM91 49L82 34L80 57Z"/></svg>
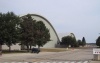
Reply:
<svg viewBox="0 0 100 63"><path fill-rule="evenodd" d="M17 15L39 14L50 21L57 33L74 33L95 43L100 35L100 0L0 0L0 12Z"/></svg>

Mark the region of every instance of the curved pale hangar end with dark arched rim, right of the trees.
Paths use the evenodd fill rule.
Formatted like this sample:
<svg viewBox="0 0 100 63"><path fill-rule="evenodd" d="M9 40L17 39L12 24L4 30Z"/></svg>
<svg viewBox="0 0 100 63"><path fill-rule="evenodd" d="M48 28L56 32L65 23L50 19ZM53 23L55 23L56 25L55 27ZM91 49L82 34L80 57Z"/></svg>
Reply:
<svg viewBox="0 0 100 63"><path fill-rule="evenodd" d="M36 21L43 21L45 26L50 30L50 36L51 41L49 41L47 44L45 44L43 47L55 47L56 44L60 42L57 32L55 31L52 24L43 16L37 15L37 14L30 14L32 18Z"/></svg>

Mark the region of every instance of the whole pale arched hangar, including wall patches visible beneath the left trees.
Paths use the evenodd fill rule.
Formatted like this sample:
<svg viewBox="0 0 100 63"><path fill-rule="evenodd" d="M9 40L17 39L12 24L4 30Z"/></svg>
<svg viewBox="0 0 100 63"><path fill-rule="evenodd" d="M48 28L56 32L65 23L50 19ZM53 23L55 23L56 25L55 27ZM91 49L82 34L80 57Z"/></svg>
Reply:
<svg viewBox="0 0 100 63"><path fill-rule="evenodd" d="M44 18L43 16L40 16L40 15L37 15L37 14L30 14L30 15L33 18L33 20L42 21L50 31L51 41L46 43L43 46L43 48L55 48L55 46L60 42L60 40L59 40L59 37L58 37L54 27L52 26L52 24L46 18ZM3 49L8 49L8 47L6 45L3 45L2 48ZM18 44L17 45L12 45L11 49L21 49L21 47Z"/></svg>

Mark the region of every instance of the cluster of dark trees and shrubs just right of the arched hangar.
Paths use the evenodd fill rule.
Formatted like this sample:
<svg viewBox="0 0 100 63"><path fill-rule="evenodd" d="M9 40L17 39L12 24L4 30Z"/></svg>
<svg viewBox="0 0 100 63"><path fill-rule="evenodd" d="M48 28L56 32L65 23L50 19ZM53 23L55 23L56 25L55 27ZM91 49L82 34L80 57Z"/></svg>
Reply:
<svg viewBox="0 0 100 63"><path fill-rule="evenodd" d="M71 33L73 34L73 33ZM74 34L73 34L74 35ZM82 38L82 40L76 40L75 36L64 36L62 37L61 40L62 45L66 45L66 47L79 47L79 46L85 46L86 45L86 40L85 37Z"/></svg>

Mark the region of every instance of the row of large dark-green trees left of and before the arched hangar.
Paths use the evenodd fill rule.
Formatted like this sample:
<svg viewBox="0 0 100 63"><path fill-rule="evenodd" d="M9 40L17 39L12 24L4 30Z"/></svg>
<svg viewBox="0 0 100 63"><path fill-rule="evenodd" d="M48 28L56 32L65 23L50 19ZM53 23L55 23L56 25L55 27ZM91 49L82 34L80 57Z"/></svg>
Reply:
<svg viewBox="0 0 100 63"><path fill-rule="evenodd" d="M30 14L19 17L13 12L0 13L0 50L2 45L11 46L19 43L27 47L38 48L50 41L50 32L42 21L36 21Z"/></svg>

